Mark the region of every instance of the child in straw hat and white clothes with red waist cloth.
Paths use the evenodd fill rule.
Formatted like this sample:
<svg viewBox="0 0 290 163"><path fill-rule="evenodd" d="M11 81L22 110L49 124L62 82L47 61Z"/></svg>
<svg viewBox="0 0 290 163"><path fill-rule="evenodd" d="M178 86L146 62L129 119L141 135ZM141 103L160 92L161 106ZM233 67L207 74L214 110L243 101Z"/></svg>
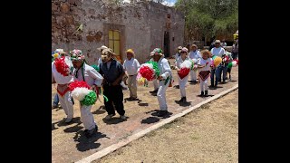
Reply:
<svg viewBox="0 0 290 163"><path fill-rule="evenodd" d="M210 68L213 68L211 53L208 50L201 51L202 58L198 61L198 77L200 85L200 96L208 96L208 77L210 75Z"/></svg>

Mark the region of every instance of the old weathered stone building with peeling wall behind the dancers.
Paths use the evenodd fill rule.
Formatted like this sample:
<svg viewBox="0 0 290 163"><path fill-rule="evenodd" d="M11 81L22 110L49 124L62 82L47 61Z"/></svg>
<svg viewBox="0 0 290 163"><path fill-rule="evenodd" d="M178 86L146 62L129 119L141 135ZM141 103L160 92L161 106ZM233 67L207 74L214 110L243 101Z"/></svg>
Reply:
<svg viewBox="0 0 290 163"><path fill-rule="evenodd" d="M112 5L105 0L53 0L52 51L82 50L87 62L96 63L98 47L111 47L118 58L132 48L140 62L160 47L166 57L183 43L184 15L154 2Z"/></svg>

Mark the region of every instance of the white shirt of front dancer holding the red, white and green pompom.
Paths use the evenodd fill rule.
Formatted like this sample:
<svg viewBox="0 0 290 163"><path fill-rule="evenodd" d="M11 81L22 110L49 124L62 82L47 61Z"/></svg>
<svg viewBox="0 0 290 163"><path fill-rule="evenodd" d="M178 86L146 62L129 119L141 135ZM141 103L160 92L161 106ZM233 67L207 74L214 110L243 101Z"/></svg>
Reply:
<svg viewBox="0 0 290 163"><path fill-rule="evenodd" d="M92 66L89 66L86 63L83 63L83 66L78 72L76 69L73 70L73 81L83 81L82 70L84 75L84 82L87 82L90 87L92 87L93 84L99 87L101 86L103 80L102 75L97 72ZM76 72L78 74L78 78L75 77Z"/></svg>

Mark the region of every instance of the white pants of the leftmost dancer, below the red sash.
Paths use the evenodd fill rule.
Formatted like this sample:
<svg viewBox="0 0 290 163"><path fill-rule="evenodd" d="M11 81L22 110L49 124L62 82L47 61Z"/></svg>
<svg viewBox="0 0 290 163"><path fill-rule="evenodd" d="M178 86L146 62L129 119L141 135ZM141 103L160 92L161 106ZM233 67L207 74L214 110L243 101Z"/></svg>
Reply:
<svg viewBox="0 0 290 163"><path fill-rule="evenodd" d="M58 93L58 99L68 119L73 119L73 101L71 91L67 91L63 96Z"/></svg>

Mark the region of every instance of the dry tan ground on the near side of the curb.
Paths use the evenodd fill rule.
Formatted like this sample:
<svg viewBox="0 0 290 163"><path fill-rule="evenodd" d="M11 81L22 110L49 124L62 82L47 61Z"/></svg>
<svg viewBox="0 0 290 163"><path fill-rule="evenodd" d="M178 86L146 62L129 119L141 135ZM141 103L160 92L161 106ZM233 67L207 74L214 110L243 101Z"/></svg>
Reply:
<svg viewBox="0 0 290 163"><path fill-rule="evenodd" d="M237 93L230 92L93 163L238 162Z"/></svg>

